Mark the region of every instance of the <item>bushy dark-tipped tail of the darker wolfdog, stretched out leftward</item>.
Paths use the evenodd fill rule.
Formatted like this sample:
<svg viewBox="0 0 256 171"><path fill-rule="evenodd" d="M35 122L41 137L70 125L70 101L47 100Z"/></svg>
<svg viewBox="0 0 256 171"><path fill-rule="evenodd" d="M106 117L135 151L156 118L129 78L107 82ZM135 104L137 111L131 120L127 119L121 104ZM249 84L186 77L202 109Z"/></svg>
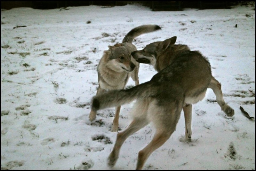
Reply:
<svg viewBox="0 0 256 171"><path fill-rule="evenodd" d="M146 98L155 94L153 82L145 82L130 89L110 90L92 98L92 110L105 109L130 103L137 98Z"/></svg>

